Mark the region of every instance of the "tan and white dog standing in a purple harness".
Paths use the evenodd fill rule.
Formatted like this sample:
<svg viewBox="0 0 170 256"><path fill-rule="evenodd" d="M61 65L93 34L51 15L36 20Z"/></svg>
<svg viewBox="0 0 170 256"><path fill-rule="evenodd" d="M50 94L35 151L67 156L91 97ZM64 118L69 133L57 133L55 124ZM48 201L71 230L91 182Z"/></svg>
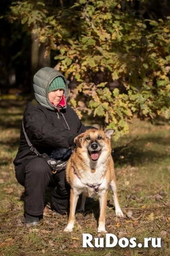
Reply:
<svg viewBox="0 0 170 256"><path fill-rule="evenodd" d="M86 197L99 195L100 217L98 221L98 233L105 230L105 215L107 208L107 194L109 186L113 192L115 214L123 217L118 195L114 172L114 163L111 155L111 136L113 129L99 131L87 130L84 136L79 138L75 151L70 157L66 167L66 180L71 186L70 212L65 232L72 232L75 222L75 209L78 197L82 194L79 211L84 211Z"/></svg>

